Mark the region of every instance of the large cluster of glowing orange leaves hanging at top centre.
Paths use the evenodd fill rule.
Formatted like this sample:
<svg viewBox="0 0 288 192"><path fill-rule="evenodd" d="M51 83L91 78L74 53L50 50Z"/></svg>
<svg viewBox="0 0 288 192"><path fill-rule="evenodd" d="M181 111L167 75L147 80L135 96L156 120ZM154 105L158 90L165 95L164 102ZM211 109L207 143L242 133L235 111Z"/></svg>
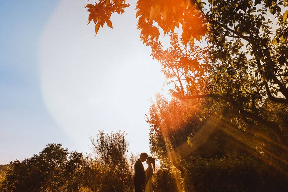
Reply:
<svg viewBox="0 0 288 192"><path fill-rule="evenodd" d="M200 40L207 31L202 14L190 1L139 0L136 10L136 18L139 17L138 29L141 30L144 43L150 37L158 39L159 34L155 32L154 27L161 28L166 35L169 32L173 33L175 27L179 28L181 24L184 44L192 42L194 38Z"/></svg>

